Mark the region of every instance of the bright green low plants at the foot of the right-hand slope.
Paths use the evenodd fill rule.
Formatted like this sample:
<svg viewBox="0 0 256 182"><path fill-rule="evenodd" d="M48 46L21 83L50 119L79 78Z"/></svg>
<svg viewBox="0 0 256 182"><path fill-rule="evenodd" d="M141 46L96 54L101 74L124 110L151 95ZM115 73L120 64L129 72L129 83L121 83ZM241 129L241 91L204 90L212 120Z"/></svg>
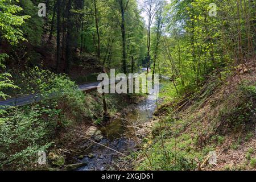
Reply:
<svg viewBox="0 0 256 182"><path fill-rule="evenodd" d="M194 170L197 167L195 158L202 160L202 154L196 150L195 140L189 134L181 134L183 121L166 119L154 126L154 139L145 140L146 145L140 154L144 156L143 164L154 170ZM179 128L175 127L180 126ZM163 127L164 126L164 127ZM164 147L163 147L164 145ZM146 153L146 155L145 155ZM138 155L137 157L141 158ZM138 169L146 169L139 166Z"/></svg>

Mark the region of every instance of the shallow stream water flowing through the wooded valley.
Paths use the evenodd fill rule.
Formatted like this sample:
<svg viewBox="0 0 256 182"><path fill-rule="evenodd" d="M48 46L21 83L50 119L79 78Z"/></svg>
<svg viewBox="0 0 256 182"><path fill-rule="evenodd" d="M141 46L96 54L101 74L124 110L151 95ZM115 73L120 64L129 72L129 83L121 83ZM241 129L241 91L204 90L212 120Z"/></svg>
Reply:
<svg viewBox="0 0 256 182"><path fill-rule="evenodd" d="M144 101L131 108L126 115L114 118L108 125L102 126L100 130L104 138L99 143L124 154L127 154L129 151L137 151L133 126L150 122L156 109L154 97L149 94ZM80 159L79 162L87 163L87 165L77 170L104 171L118 169L118 163L115 161L121 155L104 146L92 144L90 141L85 142L85 157Z"/></svg>

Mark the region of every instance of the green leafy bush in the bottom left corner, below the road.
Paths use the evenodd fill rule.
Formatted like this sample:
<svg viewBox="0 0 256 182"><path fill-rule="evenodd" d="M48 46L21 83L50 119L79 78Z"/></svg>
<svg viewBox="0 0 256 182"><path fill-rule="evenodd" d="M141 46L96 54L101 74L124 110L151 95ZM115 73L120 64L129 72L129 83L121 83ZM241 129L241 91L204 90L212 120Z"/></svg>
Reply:
<svg viewBox="0 0 256 182"><path fill-rule="evenodd" d="M9 113L0 126L0 168L24 169L36 162L38 151L47 150L55 134L56 111L39 105Z"/></svg>

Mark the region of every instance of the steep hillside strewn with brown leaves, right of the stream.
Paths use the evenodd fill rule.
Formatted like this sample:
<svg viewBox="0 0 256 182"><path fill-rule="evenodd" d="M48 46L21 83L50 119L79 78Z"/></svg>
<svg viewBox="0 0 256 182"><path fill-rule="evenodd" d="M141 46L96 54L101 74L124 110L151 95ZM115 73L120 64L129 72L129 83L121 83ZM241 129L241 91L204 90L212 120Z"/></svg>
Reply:
<svg viewBox="0 0 256 182"><path fill-rule="evenodd" d="M240 67L160 106L139 161L153 169L255 170L256 69ZM216 164L208 163L209 152L216 152Z"/></svg>

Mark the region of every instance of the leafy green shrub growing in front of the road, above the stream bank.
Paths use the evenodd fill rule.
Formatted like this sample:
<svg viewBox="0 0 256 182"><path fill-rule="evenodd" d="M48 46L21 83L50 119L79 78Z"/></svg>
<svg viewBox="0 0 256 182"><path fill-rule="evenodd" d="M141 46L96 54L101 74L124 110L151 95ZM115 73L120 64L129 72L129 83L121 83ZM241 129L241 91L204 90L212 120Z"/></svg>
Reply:
<svg viewBox="0 0 256 182"><path fill-rule="evenodd" d="M71 111L72 115L88 118L93 118L95 113L98 113L97 111L101 111L101 106L92 106L95 101L89 95L85 96L84 93L80 92L78 86L68 76L56 75L39 67L34 67L29 68L26 72L21 72L18 77L17 85L22 88L22 92L34 93L42 97L42 104L44 105L54 103L59 106L64 105L65 110Z"/></svg>

